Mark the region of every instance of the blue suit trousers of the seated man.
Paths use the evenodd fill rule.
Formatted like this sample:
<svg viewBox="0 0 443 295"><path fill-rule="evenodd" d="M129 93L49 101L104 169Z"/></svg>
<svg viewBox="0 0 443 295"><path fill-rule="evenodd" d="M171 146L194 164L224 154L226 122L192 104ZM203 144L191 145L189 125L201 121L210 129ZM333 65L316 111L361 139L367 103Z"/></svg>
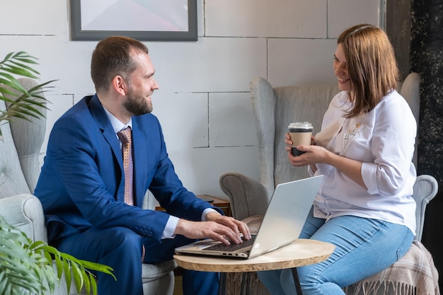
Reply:
<svg viewBox="0 0 443 295"><path fill-rule="evenodd" d="M97 273L98 294L143 295L142 253L144 262L154 263L173 259L174 249L192 240L177 235L161 243L140 237L125 227L90 229L62 238L54 246L81 260L98 262L113 267L117 281L109 274ZM217 272L183 270L184 295L212 295L219 289Z"/></svg>

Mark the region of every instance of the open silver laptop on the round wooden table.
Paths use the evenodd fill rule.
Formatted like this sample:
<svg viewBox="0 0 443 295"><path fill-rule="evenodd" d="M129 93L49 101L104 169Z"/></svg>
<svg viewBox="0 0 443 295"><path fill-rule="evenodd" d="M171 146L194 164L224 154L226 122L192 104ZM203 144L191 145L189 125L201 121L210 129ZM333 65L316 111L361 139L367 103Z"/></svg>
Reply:
<svg viewBox="0 0 443 295"><path fill-rule="evenodd" d="M176 253L248 259L292 243L301 233L322 179L318 175L277 185L253 241L224 245L208 238L176 248Z"/></svg>

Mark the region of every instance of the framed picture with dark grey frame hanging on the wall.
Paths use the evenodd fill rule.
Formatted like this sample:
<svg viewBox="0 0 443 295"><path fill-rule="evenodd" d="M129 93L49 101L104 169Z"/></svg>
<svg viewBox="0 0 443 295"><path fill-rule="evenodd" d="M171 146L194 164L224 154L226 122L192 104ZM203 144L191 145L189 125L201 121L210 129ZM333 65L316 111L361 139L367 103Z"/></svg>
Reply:
<svg viewBox="0 0 443 295"><path fill-rule="evenodd" d="M197 41L197 0L71 0L71 39Z"/></svg>

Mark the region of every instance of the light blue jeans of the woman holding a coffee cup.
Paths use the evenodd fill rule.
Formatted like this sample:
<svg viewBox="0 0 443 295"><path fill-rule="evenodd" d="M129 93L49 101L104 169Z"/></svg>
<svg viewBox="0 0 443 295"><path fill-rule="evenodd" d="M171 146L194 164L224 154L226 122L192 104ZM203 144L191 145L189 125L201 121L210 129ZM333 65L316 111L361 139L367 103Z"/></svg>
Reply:
<svg viewBox="0 0 443 295"><path fill-rule="evenodd" d="M413 242L406 226L378 219L338 216L325 222L309 212L300 238L335 245L330 257L297 267L303 295L345 294L343 287L381 272L401 258ZM291 270L258 272L272 295L297 294Z"/></svg>

